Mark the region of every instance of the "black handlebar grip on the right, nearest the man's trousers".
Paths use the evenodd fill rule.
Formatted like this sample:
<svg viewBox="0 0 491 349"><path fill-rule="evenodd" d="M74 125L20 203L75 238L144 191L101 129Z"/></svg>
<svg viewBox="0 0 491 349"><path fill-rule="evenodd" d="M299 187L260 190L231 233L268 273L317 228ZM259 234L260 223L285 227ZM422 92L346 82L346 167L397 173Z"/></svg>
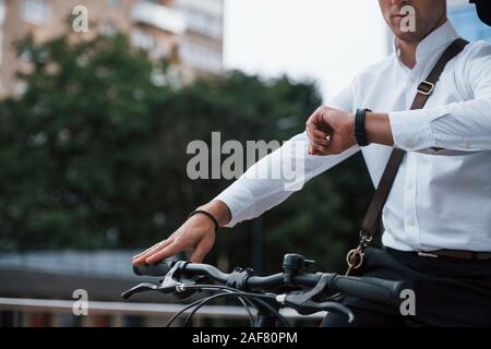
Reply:
<svg viewBox="0 0 491 349"><path fill-rule="evenodd" d="M337 275L332 281L335 291L374 301L399 300L403 281L391 281L374 277Z"/></svg>

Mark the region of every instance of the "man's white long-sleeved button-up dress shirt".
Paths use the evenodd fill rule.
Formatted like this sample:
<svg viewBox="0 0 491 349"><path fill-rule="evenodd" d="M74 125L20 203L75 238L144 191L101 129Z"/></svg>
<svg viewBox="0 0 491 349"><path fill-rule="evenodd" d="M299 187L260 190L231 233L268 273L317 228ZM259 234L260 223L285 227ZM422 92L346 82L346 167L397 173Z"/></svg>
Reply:
<svg viewBox="0 0 491 349"><path fill-rule="evenodd" d="M394 46L391 56L359 73L327 104L351 112L387 112L395 146L407 151L382 212L383 244L396 250L491 251L491 45L469 44L448 62L424 109L409 110L419 83L457 37L451 22L431 33L418 45L414 69L402 63ZM306 133L291 142L307 147ZM306 180L358 151L354 146L340 155L302 154ZM376 186L392 147L372 144L361 151ZM260 216L292 194L284 180L254 174L277 165L279 154L261 159L215 197L230 208L228 227Z"/></svg>

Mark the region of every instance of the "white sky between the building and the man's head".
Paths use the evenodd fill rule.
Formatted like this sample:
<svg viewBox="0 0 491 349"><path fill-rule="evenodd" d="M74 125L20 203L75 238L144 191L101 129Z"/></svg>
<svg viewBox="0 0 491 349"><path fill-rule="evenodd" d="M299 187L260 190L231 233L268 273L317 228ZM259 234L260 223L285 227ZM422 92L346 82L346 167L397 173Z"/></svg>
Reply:
<svg viewBox="0 0 491 349"><path fill-rule="evenodd" d="M315 80L324 99L387 52L375 0L225 0L226 68Z"/></svg>

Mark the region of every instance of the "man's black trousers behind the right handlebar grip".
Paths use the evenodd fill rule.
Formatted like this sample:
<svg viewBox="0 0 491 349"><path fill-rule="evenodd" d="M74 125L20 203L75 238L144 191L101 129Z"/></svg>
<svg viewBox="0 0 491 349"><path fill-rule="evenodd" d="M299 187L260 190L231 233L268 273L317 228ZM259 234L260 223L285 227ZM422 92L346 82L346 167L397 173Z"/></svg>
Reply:
<svg viewBox="0 0 491 349"><path fill-rule="evenodd" d="M403 315L400 302L379 303L346 296L355 321L330 313L321 326L491 326L491 260L419 256L384 248L369 248L360 275L403 280L415 294L415 315ZM404 306L404 304L403 304Z"/></svg>

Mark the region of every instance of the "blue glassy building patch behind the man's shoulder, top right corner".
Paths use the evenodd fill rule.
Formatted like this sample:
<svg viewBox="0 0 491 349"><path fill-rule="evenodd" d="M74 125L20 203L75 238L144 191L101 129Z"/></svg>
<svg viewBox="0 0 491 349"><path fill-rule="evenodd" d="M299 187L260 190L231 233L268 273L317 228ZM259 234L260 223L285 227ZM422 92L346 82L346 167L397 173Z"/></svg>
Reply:
<svg viewBox="0 0 491 349"><path fill-rule="evenodd" d="M488 40L491 43L491 27L483 24L476 7L468 0L447 0L448 16L458 34L467 40Z"/></svg>

